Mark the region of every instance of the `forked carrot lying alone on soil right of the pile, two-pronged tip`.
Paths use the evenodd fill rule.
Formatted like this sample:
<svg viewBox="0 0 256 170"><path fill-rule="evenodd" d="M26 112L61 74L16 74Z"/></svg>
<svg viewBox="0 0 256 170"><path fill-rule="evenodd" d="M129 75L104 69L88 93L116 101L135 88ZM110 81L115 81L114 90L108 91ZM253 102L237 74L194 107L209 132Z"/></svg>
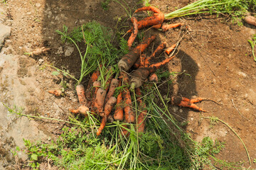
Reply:
<svg viewBox="0 0 256 170"><path fill-rule="evenodd" d="M203 112L207 112L204 111L202 108L199 108L198 106L196 106L196 104L199 101L203 101L203 98L193 98L193 99L189 99L189 98L179 98L177 96L174 96L171 98L171 103L173 103L176 106L182 106L182 107L188 107L188 108L193 108L196 111L203 111Z"/></svg>

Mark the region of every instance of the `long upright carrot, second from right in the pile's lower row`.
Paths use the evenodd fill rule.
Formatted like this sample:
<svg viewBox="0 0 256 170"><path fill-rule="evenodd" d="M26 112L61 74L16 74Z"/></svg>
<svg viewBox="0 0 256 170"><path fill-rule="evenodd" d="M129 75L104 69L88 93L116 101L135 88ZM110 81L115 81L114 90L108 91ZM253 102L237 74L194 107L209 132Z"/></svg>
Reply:
<svg viewBox="0 0 256 170"><path fill-rule="evenodd" d="M124 74L124 84L128 84L128 76L127 74ZM124 106L124 120L126 123L134 123L135 121L135 113L132 111L132 97L129 92L129 88L126 87L124 91L122 91L123 94L123 100L125 103Z"/></svg>

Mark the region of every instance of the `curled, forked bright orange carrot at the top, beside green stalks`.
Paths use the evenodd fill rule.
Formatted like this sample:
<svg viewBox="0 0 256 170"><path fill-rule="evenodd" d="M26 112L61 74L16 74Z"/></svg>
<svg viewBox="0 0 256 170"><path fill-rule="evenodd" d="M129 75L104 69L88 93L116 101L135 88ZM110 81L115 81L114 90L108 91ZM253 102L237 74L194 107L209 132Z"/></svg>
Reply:
<svg viewBox="0 0 256 170"><path fill-rule="evenodd" d="M154 6L144 6L142 8L138 8L134 13L137 13L139 11L153 11L154 15L138 21L138 30L149 26L155 26L156 28L159 28L161 26L161 23L164 22L164 13L162 13L159 8L156 8ZM132 29L128 30L127 32L132 32Z"/></svg>

